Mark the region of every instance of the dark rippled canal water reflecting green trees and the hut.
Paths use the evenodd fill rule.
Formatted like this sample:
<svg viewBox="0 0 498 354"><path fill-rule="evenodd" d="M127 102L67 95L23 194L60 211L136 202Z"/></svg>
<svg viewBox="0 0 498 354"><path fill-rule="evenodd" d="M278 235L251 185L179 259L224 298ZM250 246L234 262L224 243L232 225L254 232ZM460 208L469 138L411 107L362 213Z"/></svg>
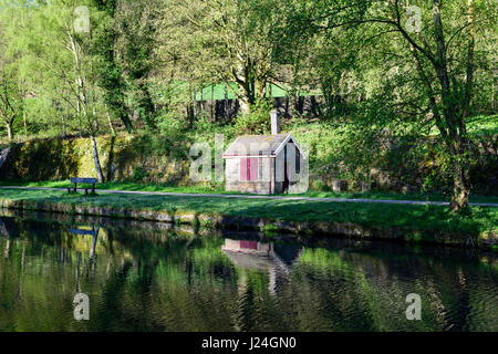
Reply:
<svg viewBox="0 0 498 354"><path fill-rule="evenodd" d="M0 332L498 331L497 287L483 251L0 214Z"/></svg>

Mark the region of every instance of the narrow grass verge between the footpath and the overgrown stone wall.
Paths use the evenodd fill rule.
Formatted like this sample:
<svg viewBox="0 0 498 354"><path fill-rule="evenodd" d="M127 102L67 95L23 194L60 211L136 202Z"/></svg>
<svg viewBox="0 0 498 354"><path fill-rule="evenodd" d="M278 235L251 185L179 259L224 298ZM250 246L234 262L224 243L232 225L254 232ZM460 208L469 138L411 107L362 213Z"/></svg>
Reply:
<svg viewBox="0 0 498 354"><path fill-rule="evenodd" d="M0 186L22 186L22 187L52 187L52 188L66 188L71 186L69 180L62 181L0 181ZM219 186L162 186L156 184L134 184L134 183L121 183L108 181L104 184L97 184L96 189L111 189L111 190L136 190L136 191L164 191L164 192L188 192L188 194L220 194L220 195L235 195L238 192L226 191L222 185ZM347 199L387 199L387 200L429 200L429 201L449 201L449 196L443 194L413 194L403 195L394 192L334 192L334 191L314 191L309 190L304 194L290 195L300 197L313 197L313 198L347 198ZM470 196L471 202L495 202L498 204L498 197L496 196Z"/></svg>

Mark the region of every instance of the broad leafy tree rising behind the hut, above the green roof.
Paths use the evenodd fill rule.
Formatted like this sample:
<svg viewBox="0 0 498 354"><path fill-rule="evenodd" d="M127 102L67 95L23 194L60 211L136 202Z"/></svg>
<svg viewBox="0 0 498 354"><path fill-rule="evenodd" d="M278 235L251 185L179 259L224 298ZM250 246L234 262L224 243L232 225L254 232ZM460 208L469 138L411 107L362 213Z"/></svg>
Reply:
<svg viewBox="0 0 498 354"><path fill-rule="evenodd" d="M158 21L157 53L169 70L200 85L222 82L249 108L278 81L270 31L273 0L168 0Z"/></svg>

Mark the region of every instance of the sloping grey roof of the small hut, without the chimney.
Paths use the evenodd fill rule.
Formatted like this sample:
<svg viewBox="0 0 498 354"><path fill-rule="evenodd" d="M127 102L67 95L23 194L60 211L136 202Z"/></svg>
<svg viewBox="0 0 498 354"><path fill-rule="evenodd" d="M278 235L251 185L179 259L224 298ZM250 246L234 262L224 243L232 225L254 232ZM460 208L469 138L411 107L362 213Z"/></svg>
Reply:
<svg viewBox="0 0 498 354"><path fill-rule="evenodd" d="M276 134L239 136L228 146L222 156L276 156L290 140L292 140L302 155L301 147L292 134Z"/></svg>

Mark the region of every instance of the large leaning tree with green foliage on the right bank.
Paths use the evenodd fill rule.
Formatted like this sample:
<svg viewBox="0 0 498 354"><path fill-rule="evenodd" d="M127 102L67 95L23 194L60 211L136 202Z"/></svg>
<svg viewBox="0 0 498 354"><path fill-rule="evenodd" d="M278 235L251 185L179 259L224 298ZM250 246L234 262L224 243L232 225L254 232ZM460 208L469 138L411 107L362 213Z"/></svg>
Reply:
<svg viewBox="0 0 498 354"><path fill-rule="evenodd" d="M483 108L496 110L489 94L495 84L480 76L492 76L496 61L486 39L497 38L490 30L496 29L490 15L496 2L411 6L419 15L416 29L412 11L397 1L288 1L279 27L287 35L282 46L292 49L284 58L301 71L298 82L318 77L330 119L354 123L359 134L350 134L356 143L351 146L378 156L382 149L372 147L382 148L383 140L426 136L436 126L445 150L445 184L453 186L457 210L465 208L470 190L466 121ZM490 88L487 100L473 101L478 85ZM484 106L476 104L484 101Z"/></svg>

